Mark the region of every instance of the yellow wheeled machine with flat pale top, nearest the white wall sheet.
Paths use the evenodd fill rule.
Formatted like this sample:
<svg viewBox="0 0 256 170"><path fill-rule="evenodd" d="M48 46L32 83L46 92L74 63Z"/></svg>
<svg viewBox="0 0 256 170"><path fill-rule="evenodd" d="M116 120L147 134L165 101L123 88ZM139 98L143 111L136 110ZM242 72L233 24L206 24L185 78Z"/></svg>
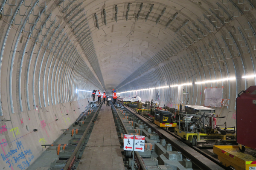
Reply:
<svg viewBox="0 0 256 170"><path fill-rule="evenodd" d="M224 116L225 117L225 116ZM197 105L186 105L185 111L177 116L177 127L175 133L196 146L200 142L233 141L236 138L236 128L221 128L216 125L217 118L215 109Z"/></svg>

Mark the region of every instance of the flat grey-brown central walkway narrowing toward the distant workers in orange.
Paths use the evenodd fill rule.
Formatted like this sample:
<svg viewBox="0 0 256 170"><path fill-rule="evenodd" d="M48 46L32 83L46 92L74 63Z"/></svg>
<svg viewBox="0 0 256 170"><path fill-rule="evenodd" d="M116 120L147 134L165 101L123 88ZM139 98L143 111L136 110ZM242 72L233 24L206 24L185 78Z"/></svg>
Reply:
<svg viewBox="0 0 256 170"><path fill-rule="evenodd" d="M99 112L77 170L125 170L111 107Z"/></svg>

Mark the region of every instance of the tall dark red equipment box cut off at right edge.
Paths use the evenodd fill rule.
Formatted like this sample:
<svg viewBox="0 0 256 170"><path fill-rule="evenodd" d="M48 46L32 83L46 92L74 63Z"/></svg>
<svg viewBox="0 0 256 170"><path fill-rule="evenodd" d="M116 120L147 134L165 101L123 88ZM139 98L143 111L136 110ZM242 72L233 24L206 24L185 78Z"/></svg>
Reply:
<svg viewBox="0 0 256 170"><path fill-rule="evenodd" d="M242 93L244 92L244 93ZM242 94L241 94L242 93ZM240 95L241 94L241 95ZM241 91L236 98L236 142L256 149L256 86Z"/></svg>

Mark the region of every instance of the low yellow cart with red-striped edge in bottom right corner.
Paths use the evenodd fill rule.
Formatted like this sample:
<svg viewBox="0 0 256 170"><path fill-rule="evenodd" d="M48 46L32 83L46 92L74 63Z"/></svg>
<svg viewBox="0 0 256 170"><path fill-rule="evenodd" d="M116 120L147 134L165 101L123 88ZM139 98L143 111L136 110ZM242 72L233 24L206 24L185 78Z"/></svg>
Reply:
<svg viewBox="0 0 256 170"><path fill-rule="evenodd" d="M256 150L246 147L244 153L239 146L213 146L213 152L226 167L232 166L236 170L256 170Z"/></svg>

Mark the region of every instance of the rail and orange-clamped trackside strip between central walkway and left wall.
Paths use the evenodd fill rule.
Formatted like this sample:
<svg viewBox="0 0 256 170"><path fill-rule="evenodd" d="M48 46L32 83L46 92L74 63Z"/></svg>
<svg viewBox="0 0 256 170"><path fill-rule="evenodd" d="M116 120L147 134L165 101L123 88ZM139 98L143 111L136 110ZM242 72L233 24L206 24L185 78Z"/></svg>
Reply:
<svg viewBox="0 0 256 170"><path fill-rule="evenodd" d="M83 116L81 121L79 121L78 129L66 130L64 132L71 134L71 139L68 140L68 144L57 144L58 160L52 162L48 170L76 170L90 138L94 123L99 115L102 103L91 108L91 111ZM46 145L42 146L46 147Z"/></svg>

